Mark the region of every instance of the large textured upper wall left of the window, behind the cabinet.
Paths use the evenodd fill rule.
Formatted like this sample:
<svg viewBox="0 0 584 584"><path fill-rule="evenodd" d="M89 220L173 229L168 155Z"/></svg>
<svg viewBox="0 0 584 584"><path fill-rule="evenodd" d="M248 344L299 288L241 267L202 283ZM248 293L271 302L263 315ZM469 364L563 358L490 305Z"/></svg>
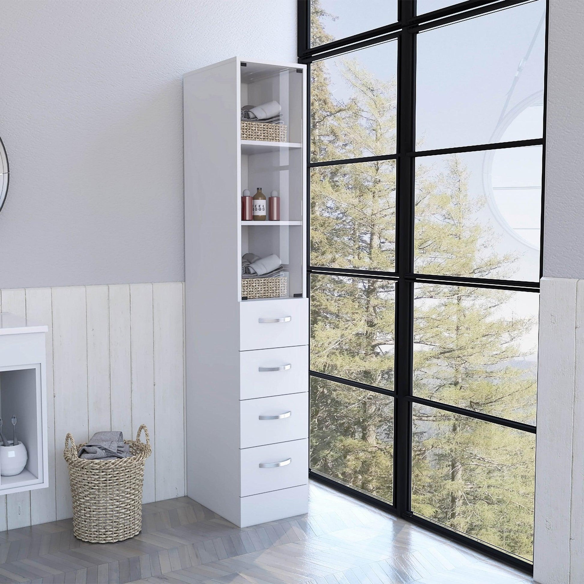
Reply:
<svg viewBox="0 0 584 584"><path fill-rule="evenodd" d="M183 280L182 74L235 54L296 0L2 0L0 287Z"/></svg>

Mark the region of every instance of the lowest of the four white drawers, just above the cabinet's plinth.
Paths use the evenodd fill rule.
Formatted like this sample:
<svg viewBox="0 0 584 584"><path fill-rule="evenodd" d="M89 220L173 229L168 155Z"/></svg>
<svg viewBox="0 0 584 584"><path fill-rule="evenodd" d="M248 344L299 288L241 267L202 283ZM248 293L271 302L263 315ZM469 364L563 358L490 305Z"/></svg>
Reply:
<svg viewBox="0 0 584 584"><path fill-rule="evenodd" d="M308 483L308 439L241 450L241 496ZM277 465L260 467L261 465Z"/></svg>

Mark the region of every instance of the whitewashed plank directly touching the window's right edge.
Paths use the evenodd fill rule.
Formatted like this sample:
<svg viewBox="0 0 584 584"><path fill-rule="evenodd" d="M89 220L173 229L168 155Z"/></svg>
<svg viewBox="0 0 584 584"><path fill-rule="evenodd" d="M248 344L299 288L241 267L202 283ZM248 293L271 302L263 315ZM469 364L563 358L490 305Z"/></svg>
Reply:
<svg viewBox="0 0 584 584"><path fill-rule="evenodd" d="M558 584L571 581L576 283L543 278L540 288L533 577Z"/></svg>

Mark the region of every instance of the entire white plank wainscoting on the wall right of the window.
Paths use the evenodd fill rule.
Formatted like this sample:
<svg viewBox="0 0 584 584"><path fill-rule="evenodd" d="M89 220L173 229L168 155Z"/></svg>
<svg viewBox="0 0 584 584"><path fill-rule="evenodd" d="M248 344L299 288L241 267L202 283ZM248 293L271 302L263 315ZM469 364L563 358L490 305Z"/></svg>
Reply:
<svg viewBox="0 0 584 584"><path fill-rule="evenodd" d="M584 582L584 280L543 278L533 576Z"/></svg>

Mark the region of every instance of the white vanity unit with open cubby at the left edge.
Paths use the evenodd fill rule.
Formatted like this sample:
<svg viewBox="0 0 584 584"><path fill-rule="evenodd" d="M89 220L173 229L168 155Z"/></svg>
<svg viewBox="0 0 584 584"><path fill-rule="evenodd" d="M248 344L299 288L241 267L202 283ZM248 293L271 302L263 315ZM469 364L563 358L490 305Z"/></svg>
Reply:
<svg viewBox="0 0 584 584"><path fill-rule="evenodd" d="M0 476L0 495L48 486L47 394L45 325L30 326L24 318L0 312L0 416L2 432L26 446L25 469L12 477ZM2 471L0 465L0 472Z"/></svg>

